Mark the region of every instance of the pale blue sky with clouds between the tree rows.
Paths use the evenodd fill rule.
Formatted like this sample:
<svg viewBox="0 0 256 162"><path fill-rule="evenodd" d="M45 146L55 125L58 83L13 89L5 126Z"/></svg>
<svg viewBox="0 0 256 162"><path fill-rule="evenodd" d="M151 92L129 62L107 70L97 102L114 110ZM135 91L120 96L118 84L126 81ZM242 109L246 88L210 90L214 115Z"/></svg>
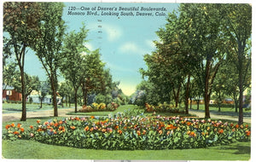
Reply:
<svg viewBox="0 0 256 162"><path fill-rule="evenodd" d="M65 5L63 20L66 21L67 31L79 31L79 27L84 22L89 29L87 38L89 42L85 44L86 47L90 50L101 49L102 61L106 62L107 68L110 68L113 80L120 81L119 88L125 95L135 92L137 84L142 81L138 70L146 67L143 55L150 54L154 50L153 41L158 40L155 32L165 26L166 16L67 15L68 8L165 7L164 13L167 15L178 7L177 3L65 3ZM102 11L98 11L98 14L101 13ZM25 71L38 75L41 80L46 78L44 69L32 52L26 55Z"/></svg>

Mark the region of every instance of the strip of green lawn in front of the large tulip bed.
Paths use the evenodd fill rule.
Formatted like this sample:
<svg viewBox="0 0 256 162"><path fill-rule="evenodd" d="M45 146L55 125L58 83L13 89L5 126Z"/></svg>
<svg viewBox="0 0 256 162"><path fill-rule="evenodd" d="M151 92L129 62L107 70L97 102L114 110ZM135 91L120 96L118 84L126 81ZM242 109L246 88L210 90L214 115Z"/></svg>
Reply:
<svg viewBox="0 0 256 162"><path fill-rule="evenodd" d="M47 145L40 142L3 140L5 159L172 159L172 160L248 160L250 142L227 146L176 150L94 150Z"/></svg>

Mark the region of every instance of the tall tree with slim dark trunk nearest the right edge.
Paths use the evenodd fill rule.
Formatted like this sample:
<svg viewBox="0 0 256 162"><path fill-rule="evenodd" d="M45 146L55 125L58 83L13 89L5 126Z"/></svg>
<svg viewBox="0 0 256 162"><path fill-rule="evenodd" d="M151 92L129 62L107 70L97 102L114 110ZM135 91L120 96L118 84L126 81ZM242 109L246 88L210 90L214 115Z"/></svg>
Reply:
<svg viewBox="0 0 256 162"><path fill-rule="evenodd" d="M238 72L239 119L243 123L243 91L246 88L247 74L251 67L252 6L250 4L227 4L223 7L225 16L224 32L230 39L229 54L235 57Z"/></svg>

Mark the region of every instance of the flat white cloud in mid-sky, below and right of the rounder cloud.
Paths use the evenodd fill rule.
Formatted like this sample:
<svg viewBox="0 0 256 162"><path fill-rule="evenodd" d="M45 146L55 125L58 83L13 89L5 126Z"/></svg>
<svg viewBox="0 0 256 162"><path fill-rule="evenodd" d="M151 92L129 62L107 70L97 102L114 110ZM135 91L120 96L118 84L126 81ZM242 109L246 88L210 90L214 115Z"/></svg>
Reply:
<svg viewBox="0 0 256 162"><path fill-rule="evenodd" d="M119 47L119 51L122 53L136 53L139 55L145 55L148 53L147 50L140 48L136 43L126 42Z"/></svg>

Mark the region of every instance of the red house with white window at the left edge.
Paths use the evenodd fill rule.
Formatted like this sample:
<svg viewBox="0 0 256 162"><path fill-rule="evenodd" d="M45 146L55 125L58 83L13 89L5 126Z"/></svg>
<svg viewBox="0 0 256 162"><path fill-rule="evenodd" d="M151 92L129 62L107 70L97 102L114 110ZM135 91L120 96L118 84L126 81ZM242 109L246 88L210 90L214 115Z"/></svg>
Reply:
<svg viewBox="0 0 256 162"><path fill-rule="evenodd" d="M21 101L22 95L14 87L3 85L3 101Z"/></svg>

